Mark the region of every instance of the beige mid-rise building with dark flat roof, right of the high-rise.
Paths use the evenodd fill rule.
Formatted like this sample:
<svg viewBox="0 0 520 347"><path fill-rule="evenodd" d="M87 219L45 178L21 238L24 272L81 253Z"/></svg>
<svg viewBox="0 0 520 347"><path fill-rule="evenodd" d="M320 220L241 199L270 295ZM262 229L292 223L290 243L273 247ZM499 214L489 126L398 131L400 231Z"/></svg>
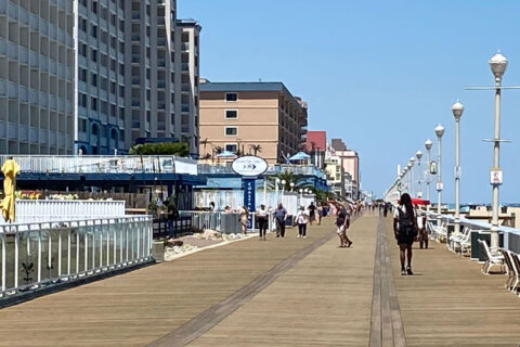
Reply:
<svg viewBox="0 0 520 347"><path fill-rule="evenodd" d="M284 83L205 81L199 92L202 157L225 150L276 164L303 147L307 103Z"/></svg>

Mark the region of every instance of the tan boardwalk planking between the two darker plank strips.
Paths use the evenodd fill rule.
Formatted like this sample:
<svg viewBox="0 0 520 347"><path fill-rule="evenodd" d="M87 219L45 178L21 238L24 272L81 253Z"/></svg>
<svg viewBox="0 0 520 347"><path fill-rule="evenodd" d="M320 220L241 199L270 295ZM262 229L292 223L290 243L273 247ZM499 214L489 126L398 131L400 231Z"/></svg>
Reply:
<svg viewBox="0 0 520 347"><path fill-rule="evenodd" d="M328 241L190 346L368 346L376 223L355 221L354 247Z"/></svg>

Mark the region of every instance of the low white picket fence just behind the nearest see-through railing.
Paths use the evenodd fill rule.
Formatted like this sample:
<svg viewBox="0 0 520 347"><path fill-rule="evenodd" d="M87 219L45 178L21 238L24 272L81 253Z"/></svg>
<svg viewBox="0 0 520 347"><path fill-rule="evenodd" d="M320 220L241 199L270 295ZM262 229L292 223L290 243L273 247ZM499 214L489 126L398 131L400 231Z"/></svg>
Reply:
<svg viewBox="0 0 520 347"><path fill-rule="evenodd" d="M16 200L17 222L58 221L66 219L125 216L125 201ZM0 219L0 224L5 224Z"/></svg>

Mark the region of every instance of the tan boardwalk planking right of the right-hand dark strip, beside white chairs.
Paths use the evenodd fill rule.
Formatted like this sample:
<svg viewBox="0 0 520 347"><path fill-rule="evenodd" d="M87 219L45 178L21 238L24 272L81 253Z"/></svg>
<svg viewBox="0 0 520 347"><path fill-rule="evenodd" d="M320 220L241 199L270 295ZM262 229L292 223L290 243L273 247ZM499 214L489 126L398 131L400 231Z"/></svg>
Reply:
<svg viewBox="0 0 520 347"><path fill-rule="evenodd" d="M484 275L431 241L429 249L414 244L414 275L401 277L390 218L386 224L408 347L520 345L520 298L504 287L507 277Z"/></svg>

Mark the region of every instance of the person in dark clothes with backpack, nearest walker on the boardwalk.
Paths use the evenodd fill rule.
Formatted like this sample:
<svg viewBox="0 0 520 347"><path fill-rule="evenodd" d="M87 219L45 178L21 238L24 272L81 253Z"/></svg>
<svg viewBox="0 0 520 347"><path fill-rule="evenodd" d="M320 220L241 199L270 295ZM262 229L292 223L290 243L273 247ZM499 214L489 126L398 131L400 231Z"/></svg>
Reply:
<svg viewBox="0 0 520 347"><path fill-rule="evenodd" d="M414 274L412 272L412 244L418 230L416 215L412 197L408 193L403 193L393 214L393 233L400 248L402 275ZM404 267L405 260L407 260L406 268Z"/></svg>

